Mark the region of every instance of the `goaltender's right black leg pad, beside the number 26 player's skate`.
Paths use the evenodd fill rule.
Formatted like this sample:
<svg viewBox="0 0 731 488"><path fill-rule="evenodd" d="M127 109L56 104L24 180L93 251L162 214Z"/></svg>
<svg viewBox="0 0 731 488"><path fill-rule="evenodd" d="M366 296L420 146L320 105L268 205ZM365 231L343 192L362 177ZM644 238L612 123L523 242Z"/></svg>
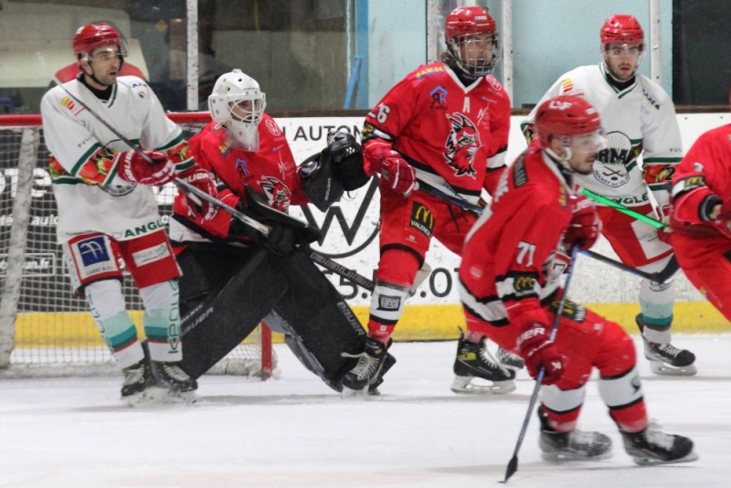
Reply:
<svg viewBox="0 0 731 488"><path fill-rule="evenodd" d="M358 355L365 350L363 326L307 256L295 254L270 262L288 282L288 290L274 310L289 324L302 349L321 366L321 371L314 372L328 385L338 382L356 364L353 357L343 354Z"/></svg>

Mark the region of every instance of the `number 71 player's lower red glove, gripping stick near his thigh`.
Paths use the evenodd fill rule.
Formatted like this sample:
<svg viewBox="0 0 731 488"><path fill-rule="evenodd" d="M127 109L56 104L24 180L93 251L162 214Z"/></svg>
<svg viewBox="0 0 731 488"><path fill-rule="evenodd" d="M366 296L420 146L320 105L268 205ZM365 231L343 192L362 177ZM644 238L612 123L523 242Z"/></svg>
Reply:
<svg viewBox="0 0 731 488"><path fill-rule="evenodd" d="M530 324L518 336L518 349L523 356L528 374L536 379L541 367L546 368L544 385L553 385L564 376L564 358L549 339L550 329L544 324Z"/></svg>

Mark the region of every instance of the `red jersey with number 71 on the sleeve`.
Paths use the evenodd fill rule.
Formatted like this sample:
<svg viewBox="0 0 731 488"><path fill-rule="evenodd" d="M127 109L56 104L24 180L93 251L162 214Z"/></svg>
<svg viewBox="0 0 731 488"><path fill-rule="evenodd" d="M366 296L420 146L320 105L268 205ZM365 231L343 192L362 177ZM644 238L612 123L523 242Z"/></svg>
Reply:
<svg viewBox="0 0 731 488"><path fill-rule="evenodd" d="M556 292L565 268L556 251L574 187L573 172L535 146L503 173L462 250L461 300L471 313L495 326L549 324L541 301Z"/></svg>

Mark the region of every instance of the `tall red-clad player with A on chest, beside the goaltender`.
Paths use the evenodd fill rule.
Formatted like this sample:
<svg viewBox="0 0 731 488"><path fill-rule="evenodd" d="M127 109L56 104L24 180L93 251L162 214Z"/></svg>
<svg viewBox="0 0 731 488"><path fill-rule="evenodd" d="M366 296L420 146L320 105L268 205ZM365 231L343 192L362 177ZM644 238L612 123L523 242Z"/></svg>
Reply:
<svg viewBox="0 0 731 488"><path fill-rule="evenodd" d="M449 49L440 62L409 73L365 116L365 169L380 175L381 256L366 353L343 380L355 390L377 377L430 240L460 254L476 219L419 191L417 179L477 204L505 167L510 100L491 75L499 54L495 21L482 7L456 8L447 16L445 38ZM491 360L482 335L469 327L454 371L457 392L514 389L514 371ZM478 386L473 377L492 383Z"/></svg>

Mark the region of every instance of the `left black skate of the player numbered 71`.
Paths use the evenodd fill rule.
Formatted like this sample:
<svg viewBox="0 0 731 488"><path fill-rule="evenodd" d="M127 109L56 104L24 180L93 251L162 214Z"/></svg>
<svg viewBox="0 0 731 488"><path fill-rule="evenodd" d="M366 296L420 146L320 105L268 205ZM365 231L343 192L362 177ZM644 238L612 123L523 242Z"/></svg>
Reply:
<svg viewBox="0 0 731 488"><path fill-rule="evenodd" d="M612 456L609 436L601 432L584 432L578 429L556 432L548 426L548 418L542 408L538 408L538 419L541 419L541 437L538 445L544 460L600 461Z"/></svg>

